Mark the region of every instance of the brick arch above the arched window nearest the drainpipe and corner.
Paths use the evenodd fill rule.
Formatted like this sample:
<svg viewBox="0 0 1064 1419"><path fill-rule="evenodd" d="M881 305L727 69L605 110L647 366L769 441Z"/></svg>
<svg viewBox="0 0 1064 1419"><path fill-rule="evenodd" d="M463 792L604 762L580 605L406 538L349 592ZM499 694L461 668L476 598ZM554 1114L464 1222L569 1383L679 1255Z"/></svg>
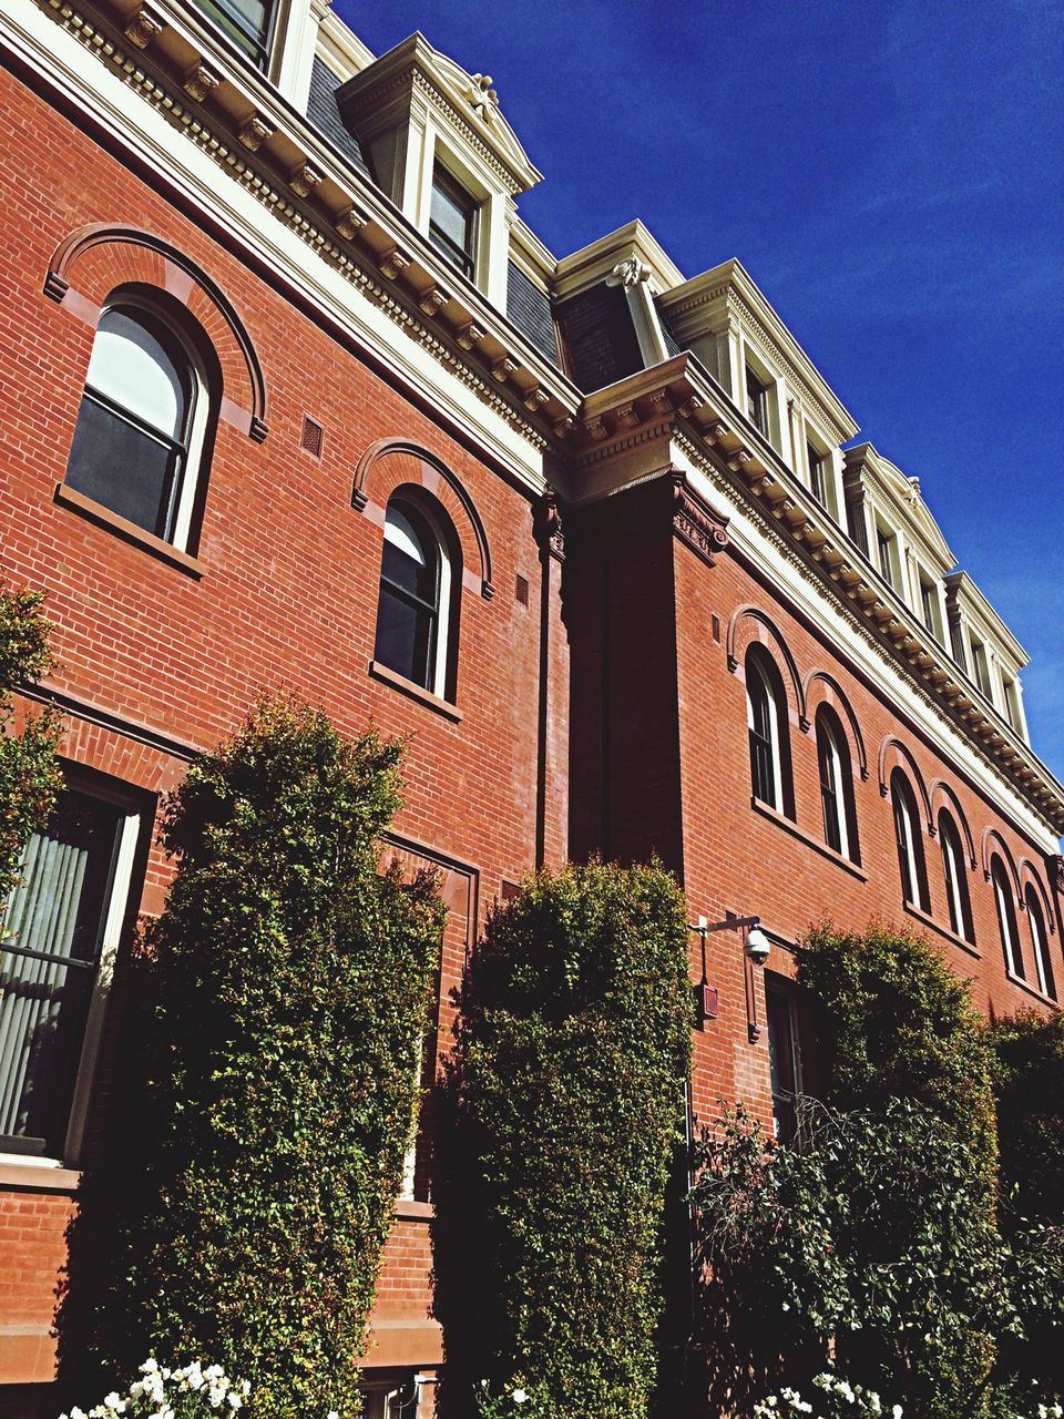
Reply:
<svg viewBox="0 0 1064 1419"><path fill-rule="evenodd" d="M462 549L462 587L489 602L495 587L491 585L488 535L465 485L443 458L406 438L377 438L355 468L352 504L359 512L369 514L372 508L373 521L383 526L387 501L403 482L423 487L443 505ZM478 572L471 570L474 566Z"/></svg>

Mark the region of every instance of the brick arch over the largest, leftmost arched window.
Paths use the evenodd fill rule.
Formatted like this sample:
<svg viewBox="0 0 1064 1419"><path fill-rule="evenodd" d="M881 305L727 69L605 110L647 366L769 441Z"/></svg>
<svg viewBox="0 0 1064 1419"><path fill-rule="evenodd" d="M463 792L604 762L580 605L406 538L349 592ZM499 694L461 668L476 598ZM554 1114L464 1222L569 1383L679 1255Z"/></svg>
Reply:
<svg viewBox="0 0 1064 1419"><path fill-rule="evenodd" d="M262 443L267 389L247 326L221 287L163 237L104 221L78 227L52 253L44 294L95 326L108 295L129 284L166 291L187 307L214 346L221 368L218 416Z"/></svg>

